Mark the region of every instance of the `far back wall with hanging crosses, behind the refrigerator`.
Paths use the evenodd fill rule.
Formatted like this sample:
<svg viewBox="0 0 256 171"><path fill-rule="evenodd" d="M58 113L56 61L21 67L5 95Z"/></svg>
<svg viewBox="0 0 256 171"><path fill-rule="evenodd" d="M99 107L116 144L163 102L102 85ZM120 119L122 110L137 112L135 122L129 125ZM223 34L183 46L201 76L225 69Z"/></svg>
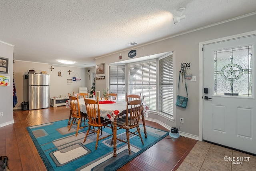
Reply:
<svg viewBox="0 0 256 171"><path fill-rule="evenodd" d="M54 69L51 71L50 67ZM88 85L88 71L85 68L77 68L70 66L59 66L27 61L14 60L13 64L14 82L16 86L16 93L18 103L14 109L21 109L21 103L27 101L27 80L24 78L25 74L28 74L28 70L33 69L36 73L46 71L50 74L50 97L59 97L60 95L65 97L68 93L78 93L78 87L86 87ZM68 71L70 72L70 75ZM61 72L61 76L58 76L58 72ZM81 78L81 81L72 82L71 85L67 84L68 78ZM89 89L89 88L88 88Z"/></svg>

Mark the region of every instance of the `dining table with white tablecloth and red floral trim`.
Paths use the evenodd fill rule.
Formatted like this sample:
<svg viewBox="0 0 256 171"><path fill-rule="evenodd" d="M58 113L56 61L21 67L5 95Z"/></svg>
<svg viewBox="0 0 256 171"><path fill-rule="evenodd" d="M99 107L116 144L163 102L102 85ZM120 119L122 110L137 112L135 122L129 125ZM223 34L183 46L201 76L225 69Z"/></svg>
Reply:
<svg viewBox="0 0 256 171"><path fill-rule="evenodd" d="M90 97L86 99L94 99L96 100L95 97ZM145 102L145 101L144 101ZM84 103L84 98L78 99L80 111L83 113L86 112L86 106ZM113 150L114 154L113 157L116 157L116 132L117 132L117 126L116 126L116 121L119 115L124 115L126 114L126 101L120 101L120 100L104 100L100 99L100 116L105 118L105 119L110 119L113 123ZM70 108L70 103L69 100L66 101L66 107ZM128 106L129 108L129 106ZM144 134L145 138L147 138L147 132L146 132L146 125L145 125L145 119L144 117L148 117L148 112L149 112L149 105L146 103L143 103L143 111L141 113L142 117L142 123L144 127Z"/></svg>

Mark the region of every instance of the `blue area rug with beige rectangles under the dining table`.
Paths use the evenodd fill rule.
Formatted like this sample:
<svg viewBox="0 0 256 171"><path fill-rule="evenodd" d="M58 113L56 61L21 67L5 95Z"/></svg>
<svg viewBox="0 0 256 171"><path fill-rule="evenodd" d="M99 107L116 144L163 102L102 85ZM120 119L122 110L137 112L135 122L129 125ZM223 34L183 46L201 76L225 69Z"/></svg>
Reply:
<svg viewBox="0 0 256 171"><path fill-rule="evenodd" d="M116 171L168 135L167 131L146 127L148 137L145 138L140 125L144 145L140 137L131 135L129 155L128 145L117 140L117 157L113 157L112 136L100 140L95 150L97 134L88 135L83 143L88 127L80 129L76 137L76 125L68 131L67 123L68 119L27 127L48 171ZM105 127L100 137L111 133L111 128ZM118 130L117 137L126 139L125 130Z"/></svg>

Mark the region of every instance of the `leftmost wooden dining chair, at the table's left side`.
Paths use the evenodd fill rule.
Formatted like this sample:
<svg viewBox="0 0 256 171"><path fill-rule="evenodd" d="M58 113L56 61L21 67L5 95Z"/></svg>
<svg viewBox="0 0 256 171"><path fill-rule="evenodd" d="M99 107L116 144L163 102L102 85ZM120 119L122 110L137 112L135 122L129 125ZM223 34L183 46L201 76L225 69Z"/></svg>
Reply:
<svg viewBox="0 0 256 171"><path fill-rule="evenodd" d="M69 101L70 101L71 117L73 117L73 118L69 125L68 131L70 131L72 125L77 124L77 128L76 128L76 136L77 136L78 130L80 128L83 128L82 127L82 118L84 118L84 127L86 127L85 122L86 122L87 114L80 112L78 97L69 96ZM76 121L76 119L78 121Z"/></svg>

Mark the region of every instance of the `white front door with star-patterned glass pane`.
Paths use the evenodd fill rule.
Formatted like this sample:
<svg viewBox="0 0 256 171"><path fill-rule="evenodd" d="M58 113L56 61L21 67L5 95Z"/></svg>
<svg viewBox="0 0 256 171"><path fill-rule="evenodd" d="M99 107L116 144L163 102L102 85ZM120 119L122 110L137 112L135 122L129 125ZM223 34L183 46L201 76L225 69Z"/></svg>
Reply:
<svg viewBox="0 0 256 171"><path fill-rule="evenodd" d="M255 44L254 35L203 46L203 140L254 154Z"/></svg>

